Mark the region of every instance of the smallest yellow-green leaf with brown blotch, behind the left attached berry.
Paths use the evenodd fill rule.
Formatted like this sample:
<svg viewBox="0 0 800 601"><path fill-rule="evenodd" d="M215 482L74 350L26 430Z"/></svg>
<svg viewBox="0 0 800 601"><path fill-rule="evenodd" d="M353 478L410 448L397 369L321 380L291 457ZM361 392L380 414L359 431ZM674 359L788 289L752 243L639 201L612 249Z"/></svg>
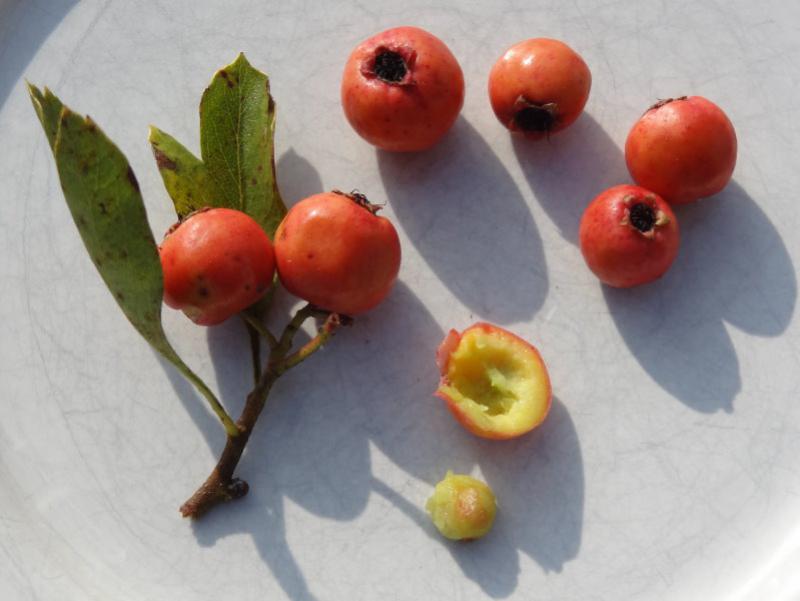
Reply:
<svg viewBox="0 0 800 601"><path fill-rule="evenodd" d="M202 207L218 206L214 203L208 173L200 159L155 126L150 126L148 139L161 179L180 219Z"/></svg>

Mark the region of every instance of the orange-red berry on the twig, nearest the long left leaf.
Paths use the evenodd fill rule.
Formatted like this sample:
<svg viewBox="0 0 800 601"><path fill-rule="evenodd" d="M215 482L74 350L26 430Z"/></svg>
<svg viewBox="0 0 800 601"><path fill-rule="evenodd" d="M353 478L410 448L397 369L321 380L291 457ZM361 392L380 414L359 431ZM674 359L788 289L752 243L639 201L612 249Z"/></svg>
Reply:
<svg viewBox="0 0 800 601"><path fill-rule="evenodd" d="M266 232L233 209L204 209L167 232L159 246L164 302L204 326L246 309L272 284L275 257Z"/></svg>

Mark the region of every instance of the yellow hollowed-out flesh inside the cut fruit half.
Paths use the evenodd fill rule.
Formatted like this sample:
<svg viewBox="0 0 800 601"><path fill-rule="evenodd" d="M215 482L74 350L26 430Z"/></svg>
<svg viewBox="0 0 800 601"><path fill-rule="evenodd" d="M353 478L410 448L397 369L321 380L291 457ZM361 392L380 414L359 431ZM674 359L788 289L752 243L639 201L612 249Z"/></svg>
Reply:
<svg viewBox="0 0 800 601"><path fill-rule="evenodd" d="M525 431L543 418L548 380L535 352L502 333L468 330L450 355L450 397L485 430Z"/></svg>

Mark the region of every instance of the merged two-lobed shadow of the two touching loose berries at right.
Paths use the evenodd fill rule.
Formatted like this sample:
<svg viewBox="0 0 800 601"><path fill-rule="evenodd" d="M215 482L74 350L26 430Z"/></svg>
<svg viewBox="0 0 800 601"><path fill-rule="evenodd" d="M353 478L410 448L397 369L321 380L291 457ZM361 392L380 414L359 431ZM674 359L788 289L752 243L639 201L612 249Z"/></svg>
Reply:
<svg viewBox="0 0 800 601"><path fill-rule="evenodd" d="M631 352L658 384L702 412L733 410L742 387L725 322L777 336L791 321L797 279L775 226L736 182L678 207L681 250L659 281L603 288Z"/></svg>

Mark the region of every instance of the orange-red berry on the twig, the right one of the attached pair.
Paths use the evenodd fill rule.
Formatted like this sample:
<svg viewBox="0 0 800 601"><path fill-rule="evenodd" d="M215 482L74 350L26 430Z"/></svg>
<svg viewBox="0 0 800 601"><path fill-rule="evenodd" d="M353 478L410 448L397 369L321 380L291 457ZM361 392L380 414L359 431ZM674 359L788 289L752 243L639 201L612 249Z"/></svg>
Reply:
<svg viewBox="0 0 800 601"><path fill-rule="evenodd" d="M362 195L315 194L294 205L275 232L283 286L344 315L378 305L400 270L400 239Z"/></svg>

